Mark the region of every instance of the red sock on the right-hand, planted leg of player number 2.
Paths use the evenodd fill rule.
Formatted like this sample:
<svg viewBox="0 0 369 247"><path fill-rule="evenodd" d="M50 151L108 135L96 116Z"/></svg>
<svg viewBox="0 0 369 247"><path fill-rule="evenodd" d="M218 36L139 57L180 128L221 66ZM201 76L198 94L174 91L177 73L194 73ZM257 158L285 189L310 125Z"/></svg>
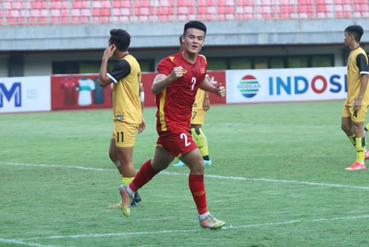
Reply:
<svg viewBox="0 0 369 247"><path fill-rule="evenodd" d="M206 208L206 193L204 186L204 175L188 176L189 190L192 193L193 200L195 201L196 208L199 215L203 215L207 212Z"/></svg>

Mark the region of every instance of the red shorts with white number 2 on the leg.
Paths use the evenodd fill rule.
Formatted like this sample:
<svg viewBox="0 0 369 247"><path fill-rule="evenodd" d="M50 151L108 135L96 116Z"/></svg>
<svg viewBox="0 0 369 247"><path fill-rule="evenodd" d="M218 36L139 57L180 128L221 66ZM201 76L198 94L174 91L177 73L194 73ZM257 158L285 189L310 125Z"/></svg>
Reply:
<svg viewBox="0 0 369 247"><path fill-rule="evenodd" d="M159 138L157 146L163 147L170 152L173 156L180 158L182 155L197 148L196 143L193 141L191 134L188 131L158 131Z"/></svg>

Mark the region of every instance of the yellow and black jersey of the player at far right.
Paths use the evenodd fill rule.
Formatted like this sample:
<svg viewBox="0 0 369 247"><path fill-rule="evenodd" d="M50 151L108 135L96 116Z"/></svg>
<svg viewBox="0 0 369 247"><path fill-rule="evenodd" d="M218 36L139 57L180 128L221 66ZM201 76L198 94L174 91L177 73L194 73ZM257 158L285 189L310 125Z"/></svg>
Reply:
<svg viewBox="0 0 369 247"><path fill-rule="evenodd" d="M368 56L362 47L350 52L347 61L347 99L345 105L353 106L359 96L362 75L369 74ZM363 97L363 105L369 104L369 87Z"/></svg>

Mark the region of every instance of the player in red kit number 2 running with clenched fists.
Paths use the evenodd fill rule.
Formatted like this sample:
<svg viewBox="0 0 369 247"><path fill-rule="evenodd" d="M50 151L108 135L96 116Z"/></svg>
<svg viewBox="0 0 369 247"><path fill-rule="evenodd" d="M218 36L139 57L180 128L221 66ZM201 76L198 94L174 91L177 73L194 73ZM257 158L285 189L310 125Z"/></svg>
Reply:
<svg viewBox="0 0 369 247"><path fill-rule="evenodd" d="M206 34L206 26L199 21L184 25L184 50L164 58L158 65L152 92L156 94L157 141L154 158L148 160L127 186L119 188L122 195L122 210L128 217L135 192L148 183L156 174L166 169L178 157L190 170L188 183L195 201L202 228L217 229L225 222L214 218L207 210L204 187L204 161L190 130L192 106L197 89L224 97L225 88L215 87L206 79L207 61L199 55Z"/></svg>

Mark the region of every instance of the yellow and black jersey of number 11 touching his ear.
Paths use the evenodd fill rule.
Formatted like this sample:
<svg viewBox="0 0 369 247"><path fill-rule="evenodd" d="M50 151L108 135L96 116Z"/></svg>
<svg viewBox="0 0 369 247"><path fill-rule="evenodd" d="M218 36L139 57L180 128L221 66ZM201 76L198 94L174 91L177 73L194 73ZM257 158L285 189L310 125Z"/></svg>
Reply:
<svg viewBox="0 0 369 247"><path fill-rule="evenodd" d="M141 69L136 58L126 54L107 75L115 82L113 83L114 120L140 124L142 122Z"/></svg>

